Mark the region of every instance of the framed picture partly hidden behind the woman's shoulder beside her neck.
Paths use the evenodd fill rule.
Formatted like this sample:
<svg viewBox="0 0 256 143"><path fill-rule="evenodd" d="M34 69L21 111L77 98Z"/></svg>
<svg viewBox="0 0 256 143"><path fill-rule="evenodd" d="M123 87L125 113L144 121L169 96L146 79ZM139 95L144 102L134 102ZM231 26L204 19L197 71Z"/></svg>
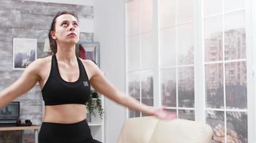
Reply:
<svg viewBox="0 0 256 143"><path fill-rule="evenodd" d="M98 66L100 66L99 49L99 42L79 42L79 56L82 59L91 59Z"/></svg>

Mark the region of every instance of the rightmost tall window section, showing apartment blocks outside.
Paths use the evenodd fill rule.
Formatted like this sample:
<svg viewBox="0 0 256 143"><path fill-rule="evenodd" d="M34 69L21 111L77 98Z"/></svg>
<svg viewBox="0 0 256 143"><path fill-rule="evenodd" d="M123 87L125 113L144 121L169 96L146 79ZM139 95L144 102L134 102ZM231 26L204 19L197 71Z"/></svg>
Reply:
<svg viewBox="0 0 256 143"><path fill-rule="evenodd" d="M206 122L214 142L248 142L244 0L205 0Z"/></svg>

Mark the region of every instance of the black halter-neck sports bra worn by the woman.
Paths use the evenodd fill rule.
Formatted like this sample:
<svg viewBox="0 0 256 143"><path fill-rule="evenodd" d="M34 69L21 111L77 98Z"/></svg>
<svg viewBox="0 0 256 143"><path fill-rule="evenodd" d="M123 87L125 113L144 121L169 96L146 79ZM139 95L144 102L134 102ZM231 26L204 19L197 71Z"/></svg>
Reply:
<svg viewBox="0 0 256 143"><path fill-rule="evenodd" d="M77 57L79 78L76 82L66 82L60 77L58 61L52 55L50 76L42 88L42 98L45 105L86 104L91 96L91 87L82 61ZM70 69L72 70L72 69Z"/></svg>

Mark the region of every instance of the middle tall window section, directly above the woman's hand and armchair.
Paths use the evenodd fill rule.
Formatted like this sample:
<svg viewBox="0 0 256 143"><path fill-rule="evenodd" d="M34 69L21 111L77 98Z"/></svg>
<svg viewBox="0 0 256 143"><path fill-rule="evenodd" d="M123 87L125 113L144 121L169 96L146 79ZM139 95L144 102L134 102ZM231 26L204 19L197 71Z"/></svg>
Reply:
<svg viewBox="0 0 256 143"><path fill-rule="evenodd" d="M158 12L161 103L194 120L193 0L160 0Z"/></svg>

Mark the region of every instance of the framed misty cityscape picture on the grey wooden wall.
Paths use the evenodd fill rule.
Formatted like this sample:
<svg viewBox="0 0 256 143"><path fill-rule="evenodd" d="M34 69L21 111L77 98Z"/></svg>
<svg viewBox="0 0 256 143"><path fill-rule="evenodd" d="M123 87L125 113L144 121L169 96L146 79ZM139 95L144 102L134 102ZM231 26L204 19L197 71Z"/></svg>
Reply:
<svg viewBox="0 0 256 143"><path fill-rule="evenodd" d="M37 59L37 39L13 39L13 69L25 69Z"/></svg>

